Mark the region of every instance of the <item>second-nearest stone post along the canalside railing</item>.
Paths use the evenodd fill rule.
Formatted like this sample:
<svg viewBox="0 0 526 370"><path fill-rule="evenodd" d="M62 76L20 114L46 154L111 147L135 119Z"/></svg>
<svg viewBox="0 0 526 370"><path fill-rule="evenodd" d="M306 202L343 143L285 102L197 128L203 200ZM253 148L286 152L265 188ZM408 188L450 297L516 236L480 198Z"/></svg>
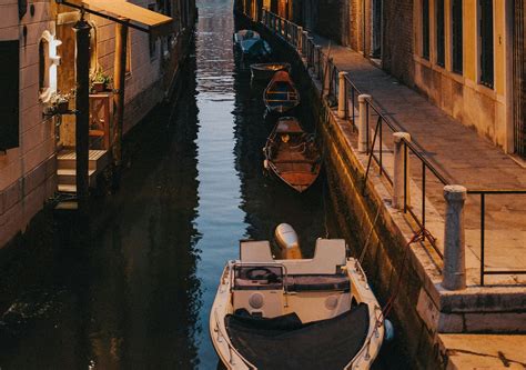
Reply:
<svg viewBox="0 0 526 370"><path fill-rule="evenodd" d="M411 204L409 197L409 157L407 153L407 163L404 173L405 141L411 142L411 134L407 132L394 132L394 174L393 174L393 207L399 210L404 209L404 184L406 184L405 203Z"/></svg>

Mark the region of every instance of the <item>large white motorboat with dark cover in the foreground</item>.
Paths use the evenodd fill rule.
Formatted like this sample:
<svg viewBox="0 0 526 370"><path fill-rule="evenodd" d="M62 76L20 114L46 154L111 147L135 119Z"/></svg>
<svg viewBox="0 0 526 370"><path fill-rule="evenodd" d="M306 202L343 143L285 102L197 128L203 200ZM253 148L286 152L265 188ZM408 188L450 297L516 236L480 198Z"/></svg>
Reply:
<svg viewBox="0 0 526 370"><path fill-rule="evenodd" d="M388 323L345 241L317 239L312 259L286 254L241 241L226 263L210 312L226 369L370 369Z"/></svg>

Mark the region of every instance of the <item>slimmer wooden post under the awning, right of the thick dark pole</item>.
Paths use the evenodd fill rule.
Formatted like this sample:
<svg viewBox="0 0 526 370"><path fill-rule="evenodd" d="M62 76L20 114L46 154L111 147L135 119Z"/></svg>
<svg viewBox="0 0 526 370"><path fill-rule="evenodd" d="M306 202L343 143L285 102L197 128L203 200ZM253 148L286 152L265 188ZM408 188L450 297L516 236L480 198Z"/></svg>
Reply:
<svg viewBox="0 0 526 370"><path fill-rule="evenodd" d="M125 19L123 19L125 20ZM115 122L113 160L117 167L122 162L122 127L124 122L124 83L127 77L128 26L115 23L115 59L113 88L115 90Z"/></svg>

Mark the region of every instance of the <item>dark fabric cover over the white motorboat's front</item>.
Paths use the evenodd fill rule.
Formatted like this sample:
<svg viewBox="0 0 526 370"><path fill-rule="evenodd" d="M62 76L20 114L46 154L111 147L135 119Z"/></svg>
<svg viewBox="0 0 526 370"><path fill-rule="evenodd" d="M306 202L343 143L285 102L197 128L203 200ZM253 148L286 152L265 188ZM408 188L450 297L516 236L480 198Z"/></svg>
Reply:
<svg viewBox="0 0 526 370"><path fill-rule="evenodd" d="M368 324L365 303L333 319L308 323L302 323L295 313L273 319L247 312L225 317L232 344L261 370L342 370L365 343Z"/></svg>

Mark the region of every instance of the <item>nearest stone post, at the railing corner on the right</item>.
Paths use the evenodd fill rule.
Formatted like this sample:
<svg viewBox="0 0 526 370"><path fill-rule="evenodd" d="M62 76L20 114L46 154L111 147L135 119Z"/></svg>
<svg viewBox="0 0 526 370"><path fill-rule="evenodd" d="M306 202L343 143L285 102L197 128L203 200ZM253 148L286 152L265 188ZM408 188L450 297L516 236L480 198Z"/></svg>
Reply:
<svg viewBox="0 0 526 370"><path fill-rule="evenodd" d="M466 288L466 256L464 237L464 202L466 188L445 186L446 222L444 226L444 272L442 287L447 290Z"/></svg>

